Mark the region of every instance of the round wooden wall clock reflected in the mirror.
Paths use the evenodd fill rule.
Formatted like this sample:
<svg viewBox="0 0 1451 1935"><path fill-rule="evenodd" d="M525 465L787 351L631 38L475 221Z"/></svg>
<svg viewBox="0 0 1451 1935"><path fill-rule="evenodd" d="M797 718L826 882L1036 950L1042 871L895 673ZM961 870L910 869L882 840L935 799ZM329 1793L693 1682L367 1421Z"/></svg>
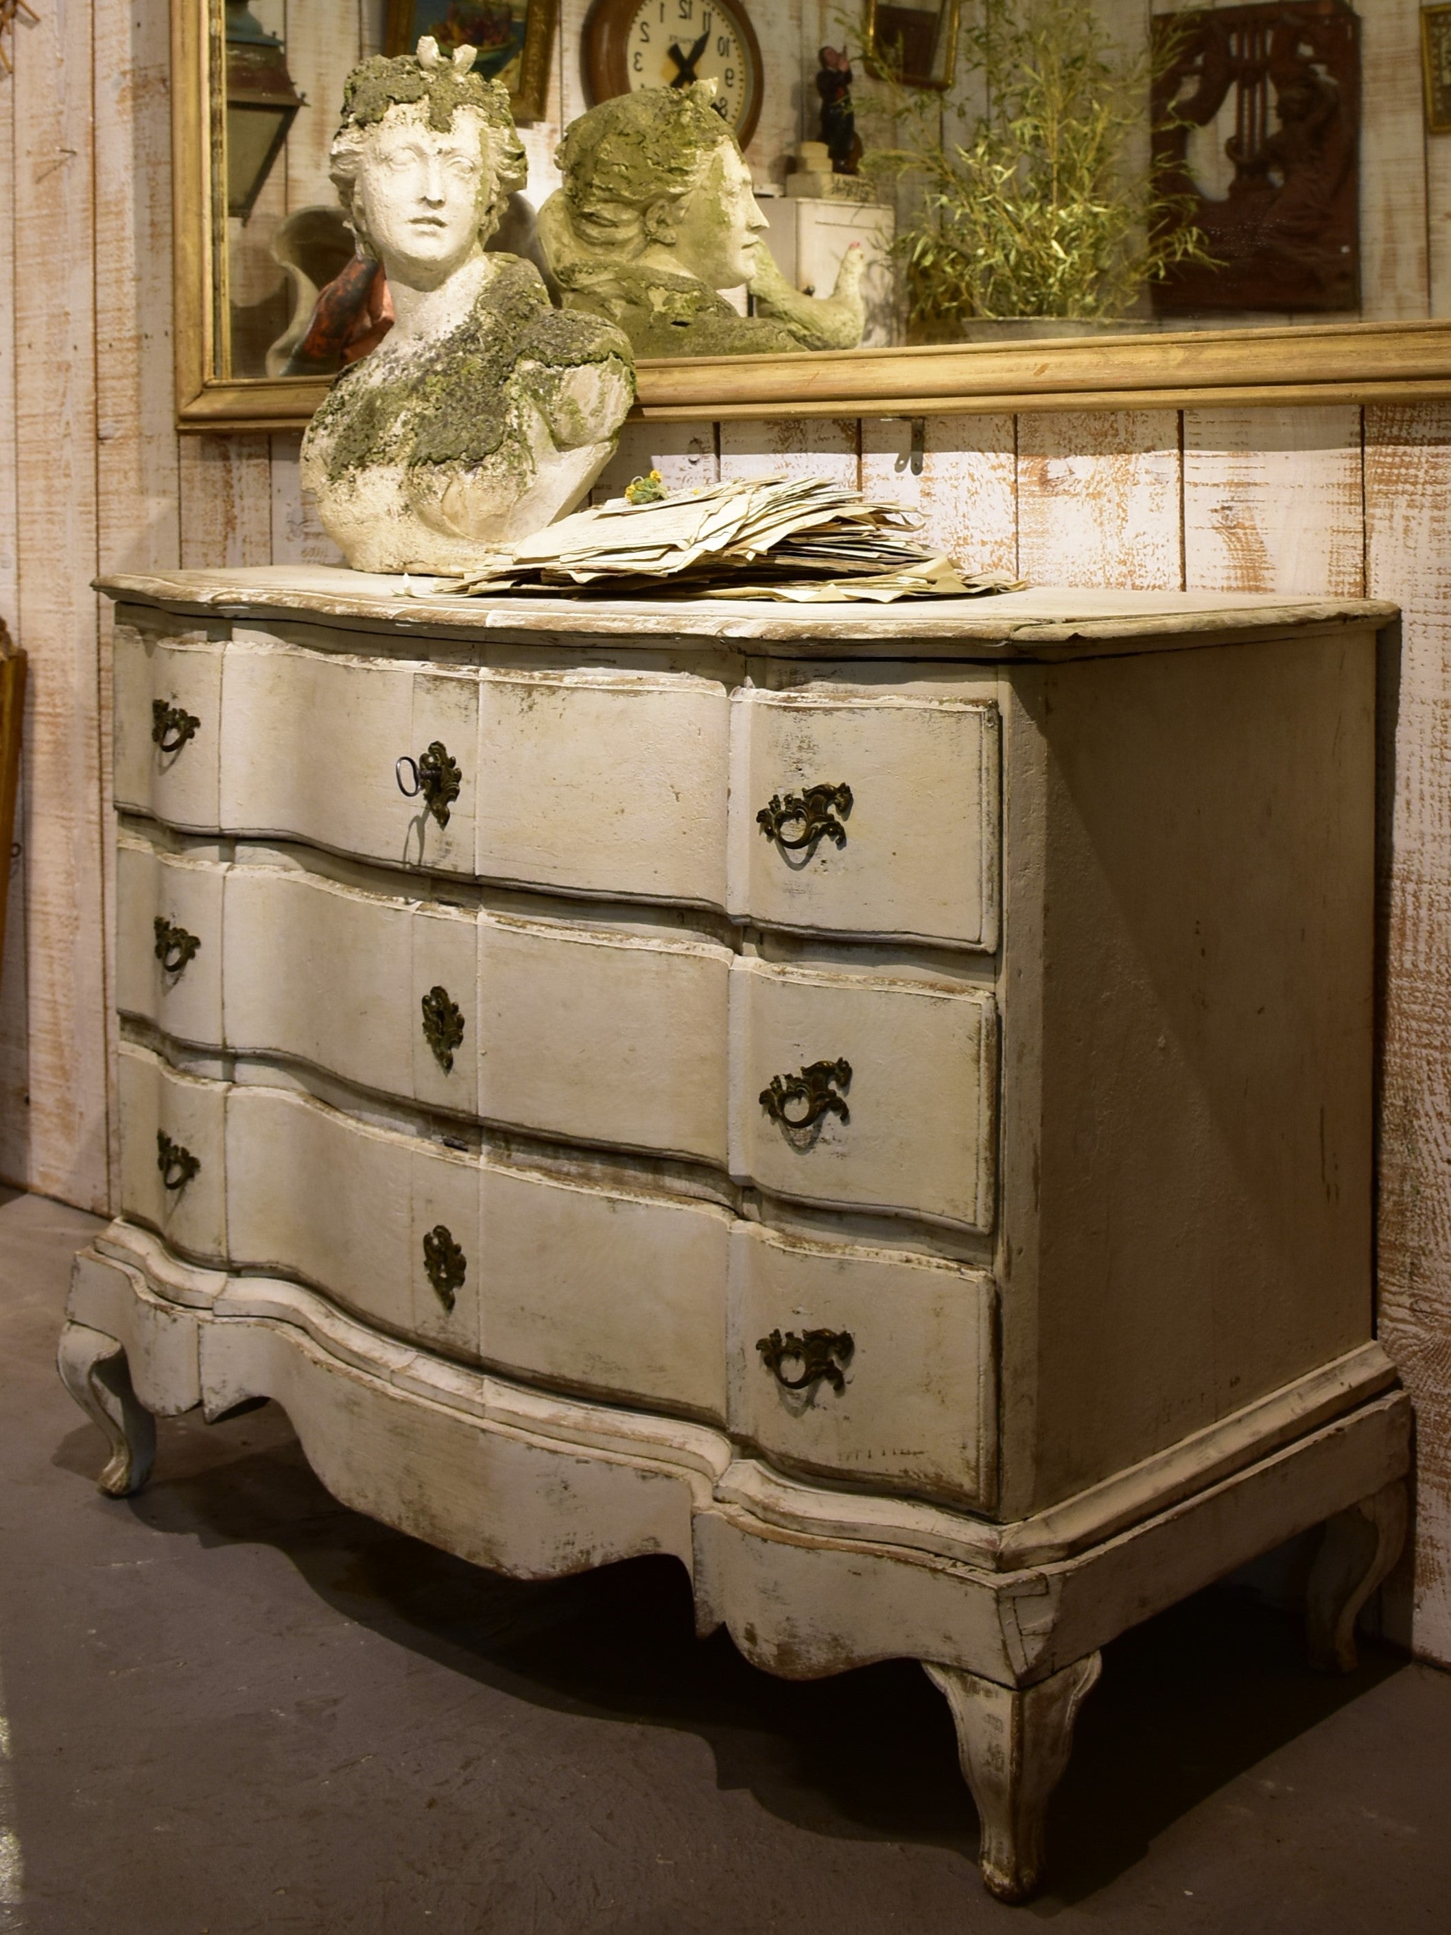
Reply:
<svg viewBox="0 0 1451 1935"><path fill-rule="evenodd" d="M637 87L714 81L741 147L756 130L760 45L741 0L594 0L580 54L592 104Z"/></svg>

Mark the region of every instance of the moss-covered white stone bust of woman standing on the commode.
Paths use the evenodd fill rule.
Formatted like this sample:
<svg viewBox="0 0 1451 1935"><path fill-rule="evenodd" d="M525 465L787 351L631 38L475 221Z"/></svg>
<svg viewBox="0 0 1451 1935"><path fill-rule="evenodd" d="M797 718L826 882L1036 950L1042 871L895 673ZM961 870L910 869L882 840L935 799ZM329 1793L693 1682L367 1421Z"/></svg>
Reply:
<svg viewBox="0 0 1451 1935"><path fill-rule="evenodd" d="M635 399L629 341L486 253L524 151L497 81L429 39L348 75L333 182L395 323L302 439L302 482L358 571L468 569L584 497Z"/></svg>

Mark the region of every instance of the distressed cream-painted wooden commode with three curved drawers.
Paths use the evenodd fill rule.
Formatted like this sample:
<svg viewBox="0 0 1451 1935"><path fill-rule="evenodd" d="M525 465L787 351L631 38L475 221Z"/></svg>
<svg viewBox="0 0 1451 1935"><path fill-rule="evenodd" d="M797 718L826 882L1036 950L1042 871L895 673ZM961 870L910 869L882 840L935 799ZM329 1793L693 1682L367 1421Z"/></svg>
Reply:
<svg viewBox="0 0 1451 1935"><path fill-rule="evenodd" d="M1099 1649L1405 1529L1372 1341L1376 627L116 579L122 1215L62 1374L346 1503L921 1658L1004 1898Z"/></svg>

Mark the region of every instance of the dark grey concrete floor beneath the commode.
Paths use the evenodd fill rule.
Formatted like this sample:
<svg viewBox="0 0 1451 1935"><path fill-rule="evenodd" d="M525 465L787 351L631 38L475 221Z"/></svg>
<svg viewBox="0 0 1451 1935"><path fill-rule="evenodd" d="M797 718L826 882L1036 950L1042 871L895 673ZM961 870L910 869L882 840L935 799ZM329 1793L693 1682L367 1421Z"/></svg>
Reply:
<svg viewBox="0 0 1451 1935"><path fill-rule="evenodd" d="M482 1573L333 1503L275 1405L101 1498L52 1364L93 1219L0 1198L6 1935L1451 1927L1451 1676L1190 1600L1109 1649L1002 1908L909 1662L770 1680L671 1560Z"/></svg>

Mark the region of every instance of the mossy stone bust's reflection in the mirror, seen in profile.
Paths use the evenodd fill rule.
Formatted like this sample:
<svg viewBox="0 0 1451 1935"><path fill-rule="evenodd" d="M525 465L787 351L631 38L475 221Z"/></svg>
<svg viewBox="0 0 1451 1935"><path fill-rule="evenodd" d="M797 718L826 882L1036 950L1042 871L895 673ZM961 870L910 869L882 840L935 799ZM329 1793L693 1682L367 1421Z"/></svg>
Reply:
<svg viewBox="0 0 1451 1935"><path fill-rule="evenodd" d="M642 87L580 114L540 209L540 242L567 310L607 317L637 356L737 356L861 342L865 257L853 244L826 298L791 288L716 83ZM745 284L755 315L720 294Z"/></svg>

